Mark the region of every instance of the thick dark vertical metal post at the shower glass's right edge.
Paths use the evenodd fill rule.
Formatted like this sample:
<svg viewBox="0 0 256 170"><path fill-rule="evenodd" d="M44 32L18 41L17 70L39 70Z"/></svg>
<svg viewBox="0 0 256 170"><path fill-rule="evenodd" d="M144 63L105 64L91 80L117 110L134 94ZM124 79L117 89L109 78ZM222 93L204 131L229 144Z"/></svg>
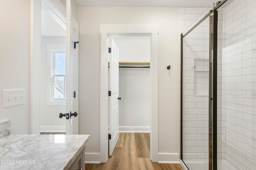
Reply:
<svg viewBox="0 0 256 170"><path fill-rule="evenodd" d="M218 11L210 16L209 30L209 170L217 170Z"/></svg>

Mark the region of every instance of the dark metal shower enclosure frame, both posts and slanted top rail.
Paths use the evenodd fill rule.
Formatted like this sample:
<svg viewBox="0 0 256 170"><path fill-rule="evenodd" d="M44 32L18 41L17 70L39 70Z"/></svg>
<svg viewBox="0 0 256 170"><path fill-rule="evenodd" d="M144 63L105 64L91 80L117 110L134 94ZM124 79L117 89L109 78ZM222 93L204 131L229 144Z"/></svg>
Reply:
<svg viewBox="0 0 256 170"><path fill-rule="evenodd" d="M196 28L202 21L210 16L210 39L209 39L209 170L217 170L217 61L218 61L218 11L217 9L227 0L223 0L213 10L210 10L194 27L186 34L181 34L181 80L180 80L180 159L183 162L182 149L182 98L183 98L183 38ZM213 15L211 16L211 14ZM184 163L184 162L183 162ZM186 165L184 163L184 165ZM188 167L186 167L188 168Z"/></svg>

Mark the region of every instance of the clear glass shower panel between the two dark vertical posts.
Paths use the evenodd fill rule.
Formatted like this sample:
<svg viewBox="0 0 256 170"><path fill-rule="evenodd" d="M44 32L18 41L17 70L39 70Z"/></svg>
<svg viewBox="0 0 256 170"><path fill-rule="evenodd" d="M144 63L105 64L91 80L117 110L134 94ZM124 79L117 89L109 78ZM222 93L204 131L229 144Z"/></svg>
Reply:
<svg viewBox="0 0 256 170"><path fill-rule="evenodd" d="M182 39L182 160L209 169L210 16Z"/></svg>

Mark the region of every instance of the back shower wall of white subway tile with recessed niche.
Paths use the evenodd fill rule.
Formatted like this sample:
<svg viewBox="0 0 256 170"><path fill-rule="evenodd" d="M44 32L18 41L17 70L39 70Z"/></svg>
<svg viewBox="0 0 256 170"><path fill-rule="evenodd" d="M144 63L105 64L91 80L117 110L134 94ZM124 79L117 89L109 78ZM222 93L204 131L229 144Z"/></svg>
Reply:
<svg viewBox="0 0 256 170"><path fill-rule="evenodd" d="M180 8L180 32L184 32L197 18L212 8ZM218 44L224 44L224 10L219 15ZM188 31L188 30L186 30ZM186 33L185 31L185 33ZM190 161L208 161L208 58L209 19L183 39L183 158ZM222 82L222 51L219 50L218 77L218 158L225 158L225 109Z"/></svg>

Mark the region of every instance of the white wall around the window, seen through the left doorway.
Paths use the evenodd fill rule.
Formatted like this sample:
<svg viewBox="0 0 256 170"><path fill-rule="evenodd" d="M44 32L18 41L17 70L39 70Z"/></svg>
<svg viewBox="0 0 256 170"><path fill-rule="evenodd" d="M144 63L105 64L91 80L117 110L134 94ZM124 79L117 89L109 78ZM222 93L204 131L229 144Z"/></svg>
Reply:
<svg viewBox="0 0 256 170"><path fill-rule="evenodd" d="M66 106L47 105L47 44L66 44L66 37L41 37L40 129L65 131L66 119L60 119L59 113L65 113Z"/></svg>

